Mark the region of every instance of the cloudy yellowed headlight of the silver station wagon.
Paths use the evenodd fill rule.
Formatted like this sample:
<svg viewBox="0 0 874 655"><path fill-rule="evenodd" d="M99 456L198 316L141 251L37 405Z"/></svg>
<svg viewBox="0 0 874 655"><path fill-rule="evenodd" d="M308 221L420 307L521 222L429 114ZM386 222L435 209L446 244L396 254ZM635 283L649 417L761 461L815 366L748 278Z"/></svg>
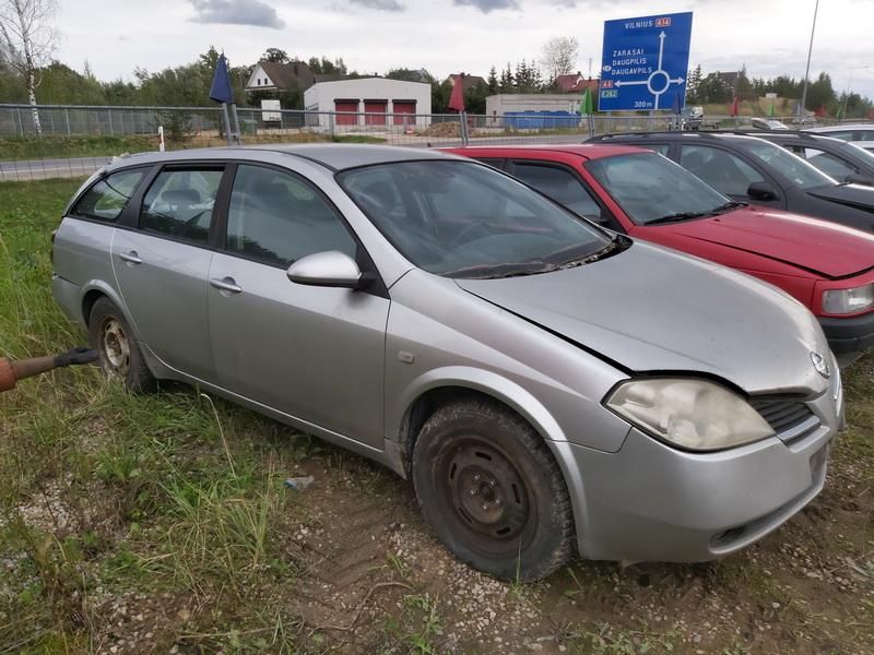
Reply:
<svg viewBox="0 0 874 655"><path fill-rule="evenodd" d="M773 434L744 398L708 380L629 380L613 391L606 406L653 437L688 450L720 450Z"/></svg>

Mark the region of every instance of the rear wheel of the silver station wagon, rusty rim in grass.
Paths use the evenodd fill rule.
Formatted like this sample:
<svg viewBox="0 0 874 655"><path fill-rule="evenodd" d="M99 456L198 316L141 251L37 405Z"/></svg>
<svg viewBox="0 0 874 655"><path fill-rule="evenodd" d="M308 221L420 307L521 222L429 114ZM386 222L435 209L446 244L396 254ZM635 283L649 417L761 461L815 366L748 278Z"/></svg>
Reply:
<svg viewBox="0 0 874 655"><path fill-rule="evenodd" d="M94 303L88 315L88 336L107 378L120 381L133 393L155 390L155 378L145 364L140 344L125 314L109 298Z"/></svg>

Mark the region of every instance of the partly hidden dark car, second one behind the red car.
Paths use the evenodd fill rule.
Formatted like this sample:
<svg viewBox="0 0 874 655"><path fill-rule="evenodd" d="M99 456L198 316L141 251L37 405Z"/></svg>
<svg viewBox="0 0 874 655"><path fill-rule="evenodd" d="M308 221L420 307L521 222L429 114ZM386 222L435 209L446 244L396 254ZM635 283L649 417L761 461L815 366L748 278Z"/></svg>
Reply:
<svg viewBox="0 0 874 655"><path fill-rule="evenodd" d="M874 152L840 139L795 130L751 134L784 147L839 182L874 186Z"/></svg>

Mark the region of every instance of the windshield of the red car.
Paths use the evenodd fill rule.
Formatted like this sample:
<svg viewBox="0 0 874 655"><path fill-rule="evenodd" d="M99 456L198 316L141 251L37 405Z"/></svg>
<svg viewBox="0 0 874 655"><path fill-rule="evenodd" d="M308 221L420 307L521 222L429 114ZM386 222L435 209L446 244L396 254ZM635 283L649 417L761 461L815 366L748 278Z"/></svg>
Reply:
<svg viewBox="0 0 874 655"><path fill-rule="evenodd" d="M656 153L592 159L586 168L637 225L712 216L739 204Z"/></svg>

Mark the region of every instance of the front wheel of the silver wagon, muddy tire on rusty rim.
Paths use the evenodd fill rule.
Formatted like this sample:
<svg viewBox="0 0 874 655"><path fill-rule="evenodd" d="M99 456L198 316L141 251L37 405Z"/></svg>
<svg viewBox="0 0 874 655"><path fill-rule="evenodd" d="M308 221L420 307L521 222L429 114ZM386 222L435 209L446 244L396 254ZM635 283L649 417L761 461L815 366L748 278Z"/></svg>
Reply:
<svg viewBox="0 0 874 655"><path fill-rule="evenodd" d="M463 562L530 582L576 551L570 499L540 434L498 403L454 402L425 422L413 449L425 521Z"/></svg>

